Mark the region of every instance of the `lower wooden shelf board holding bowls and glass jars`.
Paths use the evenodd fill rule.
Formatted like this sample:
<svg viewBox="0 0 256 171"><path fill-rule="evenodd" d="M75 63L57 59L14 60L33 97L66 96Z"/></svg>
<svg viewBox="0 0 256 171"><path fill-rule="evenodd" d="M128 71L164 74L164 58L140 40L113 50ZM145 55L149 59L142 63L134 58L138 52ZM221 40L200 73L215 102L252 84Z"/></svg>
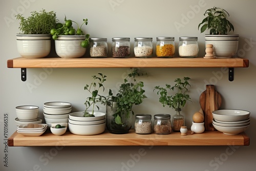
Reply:
<svg viewBox="0 0 256 171"><path fill-rule="evenodd" d="M44 133L38 137L23 136L15 132L9 139L9 146L195 146L195 145L249 145L250 139L245 133L225 135L219 131L208 131L186 136L172 132L168 135L139 135L131 130L128 134L111 134L105 131L99 135L79 136L66 132L62 136Z"/></svg>

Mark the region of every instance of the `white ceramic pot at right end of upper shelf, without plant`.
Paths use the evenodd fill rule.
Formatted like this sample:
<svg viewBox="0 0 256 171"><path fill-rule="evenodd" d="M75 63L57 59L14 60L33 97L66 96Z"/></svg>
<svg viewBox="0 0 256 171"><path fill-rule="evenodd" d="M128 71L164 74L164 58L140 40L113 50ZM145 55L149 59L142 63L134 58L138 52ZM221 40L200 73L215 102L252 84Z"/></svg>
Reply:
<svg viewBox="0 0 256 171"><path fill-rule="evenodd" d="M239 35L205 35L205 45L212 44L214 46L214 56L217 58L230 58L237 54Z"/></svg>

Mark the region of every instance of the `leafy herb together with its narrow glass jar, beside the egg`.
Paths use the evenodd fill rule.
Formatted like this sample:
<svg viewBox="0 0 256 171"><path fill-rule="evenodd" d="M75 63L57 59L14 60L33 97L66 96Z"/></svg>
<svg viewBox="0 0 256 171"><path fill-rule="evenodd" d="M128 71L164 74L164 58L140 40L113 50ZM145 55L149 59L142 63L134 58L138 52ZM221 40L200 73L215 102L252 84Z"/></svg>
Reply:
<svg viewBox="0 0 256 171"><path fill-rule="evenodd" d="M190 97L187 94L188 86L190 87L189 77L183 79L176 78L175 85L165 84L165 87L156 86L154 91L157 90L157 94L160 95L159 102L163 106L169 106L176 111L176 115L173 116L173 131L179 132L180 127L184 126L184 116L180 114L181 108L185 106L187 101L190 101ZM169 92L170 91L170 92Z"/></svg>

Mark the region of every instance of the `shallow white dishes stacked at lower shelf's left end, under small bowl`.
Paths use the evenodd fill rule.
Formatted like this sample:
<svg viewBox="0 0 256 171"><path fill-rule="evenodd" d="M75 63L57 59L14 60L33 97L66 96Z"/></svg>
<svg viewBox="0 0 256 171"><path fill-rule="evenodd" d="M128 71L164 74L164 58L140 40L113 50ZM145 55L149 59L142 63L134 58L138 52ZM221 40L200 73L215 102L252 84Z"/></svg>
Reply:
<svg viewBox="0 0 256 171"><path fill-rule="evenodd" d="M17 129L17 133L22 134L24 136L40 136L45 133L46 129L47 129L47 124L30 123L28 125L19 125Z"/></svg>

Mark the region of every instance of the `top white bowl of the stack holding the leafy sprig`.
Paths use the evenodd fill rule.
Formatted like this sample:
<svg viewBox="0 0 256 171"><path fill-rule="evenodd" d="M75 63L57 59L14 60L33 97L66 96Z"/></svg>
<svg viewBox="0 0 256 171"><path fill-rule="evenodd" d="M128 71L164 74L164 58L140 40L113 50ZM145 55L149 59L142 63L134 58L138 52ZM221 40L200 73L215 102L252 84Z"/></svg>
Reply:
<svg viewBox="0 0 256 171"><path fill-rule="evenodd" d="M92 113L92 112L89 112ZM106 118L106 114L103 112L94 112L95 117L83 117L84 112L73 112L69 114L69 119L76 121L95 121Z"/></svg>

